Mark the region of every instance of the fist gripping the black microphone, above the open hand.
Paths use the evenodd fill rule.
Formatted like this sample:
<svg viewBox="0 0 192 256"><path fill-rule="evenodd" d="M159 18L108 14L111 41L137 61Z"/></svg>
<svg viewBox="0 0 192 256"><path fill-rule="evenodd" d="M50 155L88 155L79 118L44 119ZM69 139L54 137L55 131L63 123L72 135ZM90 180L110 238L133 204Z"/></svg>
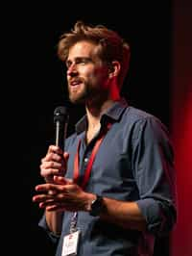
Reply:
<svg viewBox="0 0 192 256"><path fill-rule="evenodd" d="M41 160L40 175L47 183L54 183L53 177L64 176L69 154L62 152L59 146L50 145L46 156Z"/></svg>

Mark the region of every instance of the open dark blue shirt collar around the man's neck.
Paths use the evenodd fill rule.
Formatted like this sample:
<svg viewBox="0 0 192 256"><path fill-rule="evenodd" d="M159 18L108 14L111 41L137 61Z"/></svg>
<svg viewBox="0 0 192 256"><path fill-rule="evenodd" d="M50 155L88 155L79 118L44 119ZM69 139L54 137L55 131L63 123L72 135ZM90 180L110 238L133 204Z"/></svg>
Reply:
<svg viewBox="0 0 192 256"><path fill-rule="evenodd" d="M123 114L124 110L128 107L128 103L125 98L121 98L119 101L115 101L113 105L108 108L106 113L101 117L102 120L109 118L112 121L118 121ZM87 117L84 115L75 125L77 134L80 134L86 130L87 127Z"/></svg>

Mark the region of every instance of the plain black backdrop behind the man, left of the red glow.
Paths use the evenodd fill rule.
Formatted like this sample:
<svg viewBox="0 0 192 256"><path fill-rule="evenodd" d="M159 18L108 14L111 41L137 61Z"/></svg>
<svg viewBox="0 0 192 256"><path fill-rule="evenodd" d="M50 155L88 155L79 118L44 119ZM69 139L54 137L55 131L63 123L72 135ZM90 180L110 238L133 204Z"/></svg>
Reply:
<svg viewBox="0 0 192 256"><path fill-rule="evenodd" d="M15 188L9 202L11 227L5 239L9 242L11 238L14 245L7 246L6 255L11 251L17 255L54 255L54 247L37 227L42 211L32 202L32 196L36 184L42 182L40 159L54 141L54 109L67 100L56 44L60 34L70 30L78 19L107 25L130 42L131 68L123 94L130 104L158 116L169 127L172 2L154 2L26 2L6 7L3 51L8 54L6 89L12 108L13 151L9 166ZM83 107L71 108L68 134L83 114ZM168 255L168 238L158 245L156 255Z"/></svg>

